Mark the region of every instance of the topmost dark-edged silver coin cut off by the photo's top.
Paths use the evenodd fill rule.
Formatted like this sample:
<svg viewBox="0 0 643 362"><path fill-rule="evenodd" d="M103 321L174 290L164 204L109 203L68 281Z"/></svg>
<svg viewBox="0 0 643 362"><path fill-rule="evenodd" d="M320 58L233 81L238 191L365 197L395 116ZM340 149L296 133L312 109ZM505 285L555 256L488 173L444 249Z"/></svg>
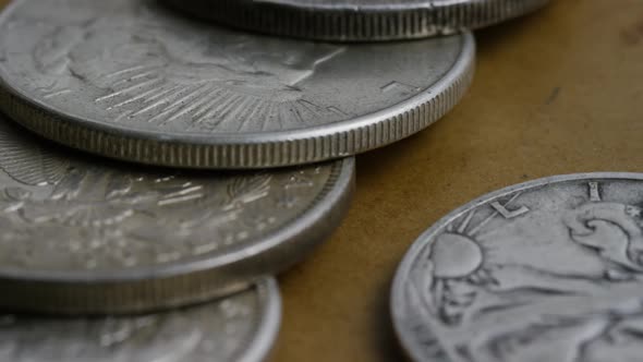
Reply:
<svg viewBox="0 0 643 362"><path fill-rule="evenodd" d="M480 28L549 0L163 0L198 17L264 33L333 41L422 38Z"/></svg>

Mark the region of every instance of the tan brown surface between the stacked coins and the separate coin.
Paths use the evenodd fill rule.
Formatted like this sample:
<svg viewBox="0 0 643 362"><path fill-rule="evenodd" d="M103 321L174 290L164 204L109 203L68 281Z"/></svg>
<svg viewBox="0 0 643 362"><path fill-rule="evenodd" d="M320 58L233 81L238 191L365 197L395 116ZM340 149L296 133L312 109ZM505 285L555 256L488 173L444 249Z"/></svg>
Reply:
<svg viewBox="0 0 643 362"><path fill-rule="evenodd" d="M390 280L424 229L512 183L643 171L643 1L553 0L477 35L478 70L462 104L429 130L360 156L349 217L281 278L276 361L401 360Z"/></svg>

